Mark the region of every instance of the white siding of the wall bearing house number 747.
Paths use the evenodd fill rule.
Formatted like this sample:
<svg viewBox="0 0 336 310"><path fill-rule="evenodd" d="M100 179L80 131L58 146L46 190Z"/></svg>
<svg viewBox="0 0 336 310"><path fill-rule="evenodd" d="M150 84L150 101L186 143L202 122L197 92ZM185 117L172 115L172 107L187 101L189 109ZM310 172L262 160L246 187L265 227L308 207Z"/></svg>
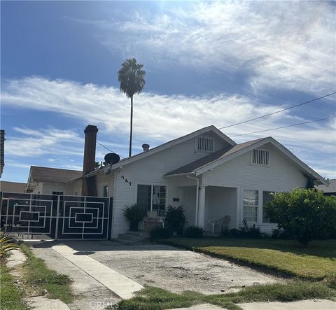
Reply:
<svg viewBox="0 0 336 310"><path fill-rule="evenodd" d="M211 132L202 136L215 138L215 151L228 146L228 143L218 139L218 136ZM115 195L113 195L113 237L128 230L128 223L123 218L123 209L125 206L137 202L138 184L166 185L167 206L169 204L176 205L172 201L173 197L179 197L182 201L179 186L196 185L196 181L190 180L186 176L163 178L164 174L207 155L209 155L207 152L195 151L195 138L193 138L118 169L116 171Z"/></svg>

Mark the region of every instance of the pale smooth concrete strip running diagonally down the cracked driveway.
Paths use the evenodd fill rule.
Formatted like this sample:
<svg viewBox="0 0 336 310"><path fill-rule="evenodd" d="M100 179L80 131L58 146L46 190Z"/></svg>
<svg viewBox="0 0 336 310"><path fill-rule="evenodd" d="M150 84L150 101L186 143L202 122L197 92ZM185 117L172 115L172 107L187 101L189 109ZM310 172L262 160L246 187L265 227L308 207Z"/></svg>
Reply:
<svg viewBox="0 0 336 310"><path fill-rule="evenodd" d="M76 255L77 251L69 246L60 244L52 246L52 249L123 299L132 298L134 292L144 288L127 276L106 267L87 255Z"/></svg>

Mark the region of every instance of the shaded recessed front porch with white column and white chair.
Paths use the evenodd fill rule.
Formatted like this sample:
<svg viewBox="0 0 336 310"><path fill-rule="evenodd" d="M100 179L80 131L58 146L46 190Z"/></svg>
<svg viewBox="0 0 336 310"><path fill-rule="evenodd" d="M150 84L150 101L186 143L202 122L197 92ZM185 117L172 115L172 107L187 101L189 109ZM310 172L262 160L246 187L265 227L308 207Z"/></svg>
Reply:
<svg viewBox="0 0 336 310"><path fill-rule="evenodd" d="M222 227L237 227L237 188L200 185L198 191L197 186L180 190L187 225L197 225L211 233L221 232Z"/></svg>

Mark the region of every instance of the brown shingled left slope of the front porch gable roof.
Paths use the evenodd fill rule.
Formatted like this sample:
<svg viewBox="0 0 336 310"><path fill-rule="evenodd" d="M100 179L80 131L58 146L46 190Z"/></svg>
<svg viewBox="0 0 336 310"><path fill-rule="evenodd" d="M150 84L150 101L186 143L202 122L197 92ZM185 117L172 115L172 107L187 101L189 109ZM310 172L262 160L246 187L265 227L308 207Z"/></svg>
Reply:
<svg viewBox="0 0 336 310"><path fill-rule="evenodd" d="M220 160L221 158L225 158L228 155L238 152L248 146L252 146L263 139L256 139L253 141L248 141L244 143L236 144L235 146L231 146L229 148L223 148L222 150L218 150L215 153L212 153L208 156L202 157L200 160L195 160L195 162L190 162L190 164L186 164L183 167L179 167L173 171L168 172L165 176L176 176L177 174L192 174L195 170L200 169L206 164L210 164L211 162L216 162L216 160Z"/></svg>

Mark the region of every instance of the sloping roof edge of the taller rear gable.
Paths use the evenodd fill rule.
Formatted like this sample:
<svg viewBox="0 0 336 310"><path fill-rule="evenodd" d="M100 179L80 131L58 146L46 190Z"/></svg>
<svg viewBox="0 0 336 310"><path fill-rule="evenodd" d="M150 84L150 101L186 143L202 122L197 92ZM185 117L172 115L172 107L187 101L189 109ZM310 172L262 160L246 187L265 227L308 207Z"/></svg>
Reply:
<svg viewBox="0 0 336 310"><path fill-rule="evenodd" d="M177 139L168 141L166 143L163 143L160 146L156 146L155 148L151 148L150 150L148 150L146 152L139 153L139 154L134 155L132 157L124 158L123 160L120 160L120 162L117 162L116 164L113 164L112 169L117 169L119 167L125 166L126 164L130 164L132 162L135 162L136 160L140 160L141 158L153 155L153 154L158 153L162 150L166 150L167 148L175 146L176 144L182 143L182 142L187 141L189 139L195 138L196 136L200 136L200 134L205 134L206 132L210 132L210 131L214 132L214 134L218 135L221 139L228 142L231 146L235 146L237 144L237 143L235 143L235 141L230 139L226 134L223 134L223 132L221 132L221 130L217 129L214 125L211 125L211 126L204 127L202 129L198 129L195 132L191 132L190 134L186 134L186 136L181 136L180 138L177 138ZM106 166L106 169L107 168L110 168L110 166L109 165ZM90 172L90 174L87 174L84 177L92 176L94 174L97 174L101 170L102 169L94 170L94 171Z"/></svg>

